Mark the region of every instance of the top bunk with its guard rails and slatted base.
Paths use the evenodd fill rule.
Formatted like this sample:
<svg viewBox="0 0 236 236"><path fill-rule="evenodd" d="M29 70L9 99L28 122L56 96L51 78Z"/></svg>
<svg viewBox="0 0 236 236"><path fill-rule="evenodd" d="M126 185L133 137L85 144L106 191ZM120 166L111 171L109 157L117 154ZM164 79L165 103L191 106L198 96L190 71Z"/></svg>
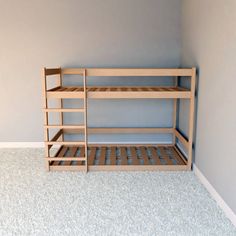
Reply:
<svg viewBox="0 0 236 236"><path fill-rule="evenodd" d="M195 83L195 68L44 68L43 78L47 83L50 75L60 75L59 86L46 89L47 98L83 98L84 91L88 99L143 99L143 98L185 98L192 96L191 88L180 87L174 82L171 86L86 86L87 77L188 77L191 86ZM62 83L65 75L80 75L83 86L66 86Z"/></svg>

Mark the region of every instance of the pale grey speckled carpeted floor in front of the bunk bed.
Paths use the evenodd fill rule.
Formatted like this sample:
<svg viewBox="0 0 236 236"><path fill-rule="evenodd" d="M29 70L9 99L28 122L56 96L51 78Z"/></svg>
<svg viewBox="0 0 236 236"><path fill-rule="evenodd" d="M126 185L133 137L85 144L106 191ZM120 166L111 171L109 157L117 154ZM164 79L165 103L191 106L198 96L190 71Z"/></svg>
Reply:
<svg viewBox="0 0 236 236"><path fill-rule="evenodd" d="M0 149L0 235L236 235L192 172L45 172Z"/></svg>

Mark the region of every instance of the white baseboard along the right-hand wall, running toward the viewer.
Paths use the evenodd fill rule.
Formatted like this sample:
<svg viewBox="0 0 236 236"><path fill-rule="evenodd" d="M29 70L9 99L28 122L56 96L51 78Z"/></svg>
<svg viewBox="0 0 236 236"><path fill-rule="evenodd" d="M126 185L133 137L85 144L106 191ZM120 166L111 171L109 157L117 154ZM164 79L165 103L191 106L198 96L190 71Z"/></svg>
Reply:
<svg viewBox="0 0 236 236"><path fill-rule="evenodd" d="M219 195L219 193L215 190L215 188L210 184L207 178L203 175L203 173L197 168L196 165L193 165L193 171L201 183L205 186L207 191L211 194L211 196L215 199L220 208L224 211L225 215L229 218L229 220L236 227L236 214L232 211L232 209L227 205L224 199Z"/></svg>

